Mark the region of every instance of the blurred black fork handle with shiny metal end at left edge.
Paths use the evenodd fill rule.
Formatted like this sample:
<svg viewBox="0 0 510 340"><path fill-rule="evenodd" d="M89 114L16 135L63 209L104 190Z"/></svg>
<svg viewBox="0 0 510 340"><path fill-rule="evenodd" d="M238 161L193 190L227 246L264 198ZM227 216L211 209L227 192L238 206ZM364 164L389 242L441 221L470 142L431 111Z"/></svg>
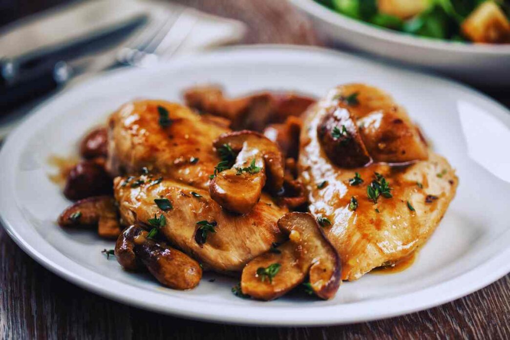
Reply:
<svg viewBox="0 0 510 340"><path fill-rule="evenodd" d="M72 70L63 61L48 61L29 69L19 69L12 61L2 62L0 103L7 110L49 93L65 84Z"/></svg>

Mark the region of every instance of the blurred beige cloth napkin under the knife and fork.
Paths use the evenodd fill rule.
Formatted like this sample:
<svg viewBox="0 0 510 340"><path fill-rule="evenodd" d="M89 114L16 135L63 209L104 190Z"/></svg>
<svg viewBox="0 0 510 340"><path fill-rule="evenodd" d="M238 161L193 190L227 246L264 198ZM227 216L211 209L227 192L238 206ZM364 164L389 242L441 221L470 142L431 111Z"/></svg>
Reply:
<svg viewBox="0 0 510 340"><path fill-rule="evenodd" d="M81 2L49 10L14 22L0 31L0 57L15 57L40 48L59 45L90 32L121 25L141 15L148 24L165 20L173 13L181 13L178 22L168 34L164 46L168 56L187 53L203 48L234 43L242 39L246 28L242 22L220 18L170 2L101 0ZM139 32L143 27L138 29ZM82 81L111 65L122 45L136 38L137 32L101 54L91 56L85 73L72 84ZM173 45L172 45L173 44ZM162 46L163 47L163 46ZM165 50L161 51L165 59ZM22 118L25 110L9 116L0 115L0 140Z"/></svg>

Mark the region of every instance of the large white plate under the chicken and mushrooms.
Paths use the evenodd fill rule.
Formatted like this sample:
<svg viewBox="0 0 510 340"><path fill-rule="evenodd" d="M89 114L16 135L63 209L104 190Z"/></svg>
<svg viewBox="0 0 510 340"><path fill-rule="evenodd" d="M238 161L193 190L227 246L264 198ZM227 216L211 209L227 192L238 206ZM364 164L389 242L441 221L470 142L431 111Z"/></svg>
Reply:
<svg viewBox="0 0 510 340"><path fill-rule="evenodd" d="M323 95L348 82L389 91L457 169L460 186L416 263L393 275L345 282L335 299L300 296L272 302L231 293L236 280L206 274L197 289L166 289L123 271L100 253L113 242L55 223L69 204L48 179L50 155L76 152L87 129L134 98L180 101L194 84L223 84L231 95L285 89ZM180 57L153 69L120 70L47 101L8 138L0 153L0 213L10 236L49 270L87 290L138 307L224 323L330 325L386 318L436 306L510 270L510 115L493 100L451 81L324 49L238 47ZM216 278L215 282L208 279Z"/></svg>

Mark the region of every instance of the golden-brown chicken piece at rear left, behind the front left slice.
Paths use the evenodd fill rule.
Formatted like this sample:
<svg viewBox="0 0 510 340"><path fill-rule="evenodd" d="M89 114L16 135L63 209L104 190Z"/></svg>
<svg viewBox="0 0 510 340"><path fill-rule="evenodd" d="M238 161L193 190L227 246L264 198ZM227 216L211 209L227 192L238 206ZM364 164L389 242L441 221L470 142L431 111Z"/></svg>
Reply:
<svg viewBox="0 0 510 340"><path fill-rule="evenodd" d="M147 167L206 189L220 161L213 140L230 131L220 119L163 100L126 103L110 116L107 169L123 175Z"/></svg>

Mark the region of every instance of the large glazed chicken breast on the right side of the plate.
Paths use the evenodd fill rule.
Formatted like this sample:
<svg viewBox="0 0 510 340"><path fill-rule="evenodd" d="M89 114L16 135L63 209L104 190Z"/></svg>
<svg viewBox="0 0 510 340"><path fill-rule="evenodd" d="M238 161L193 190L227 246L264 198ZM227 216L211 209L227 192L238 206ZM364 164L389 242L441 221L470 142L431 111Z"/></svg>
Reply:
<svg viewBox="0 0 510 340"><path fill-rule="evenodd" d="M406 156L412 154L418 159L426 156L417 129L398 106L393 104L391 107L396 108L393 111L387 105L386 95L364 85L340 89L346 94L359 91L359 103L352 111L359 113L358 122L386 112L398 115L395 119L401 119L399 124L406 126L409 132L404 137L415 142L400 146L403 150L416 148L406 152ZM394 264L409 256L427 241L455 195L457 177L448 162L432 152L428 160L411 165L373 163L363 168L337 167L325 154L317 134L323 116L337 104L328 95L307 112L301 130L298 169L309 192L309 210L321 222L326 236L340 254L342 279L355 280L373 268ZM377 126L370 129L376 131ZM373 136L378 134L367 133L364 137L369 153L375 150L375 154L385 156L384 148L368 147L377 145L369 140ZM376 158L373 153L370 155Z"/></svg>

